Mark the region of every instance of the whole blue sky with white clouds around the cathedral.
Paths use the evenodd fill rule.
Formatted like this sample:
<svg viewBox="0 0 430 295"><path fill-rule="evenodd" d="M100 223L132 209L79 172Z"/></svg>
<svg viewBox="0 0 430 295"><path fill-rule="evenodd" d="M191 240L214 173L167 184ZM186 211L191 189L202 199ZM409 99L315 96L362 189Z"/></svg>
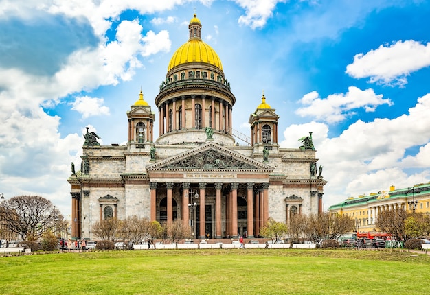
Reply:
<svg viewBox="0 0 430 295"><path fill-rule="evenodd" d="M126 143L126 111L141 88L155 110L194 10L236 96L234 129L249 134L264 91L282 147L312 131L326 209L430 181L427 1L0 0L0 193L69 215L85 127Z"/></svg>

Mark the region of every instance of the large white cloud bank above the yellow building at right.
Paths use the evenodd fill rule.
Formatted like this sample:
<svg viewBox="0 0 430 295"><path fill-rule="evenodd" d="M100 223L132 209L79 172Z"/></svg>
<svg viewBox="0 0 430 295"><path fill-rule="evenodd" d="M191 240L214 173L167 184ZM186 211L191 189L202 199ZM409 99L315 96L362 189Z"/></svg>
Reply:
<svg viewBox="0 0 430 295"><path fill-rule="evenodd" d="M281 146L298 147L297 139L313 131L318 165L324 166L323 176L328 180L324 202L334 204L348 196L387 190L389 185L405 187L429 179L429 113L427 94L408 114L369 123L359 120L331 139L328 126L322 123L290 126ZM420 147L419 152L406 155L411 147Z"/></svg>

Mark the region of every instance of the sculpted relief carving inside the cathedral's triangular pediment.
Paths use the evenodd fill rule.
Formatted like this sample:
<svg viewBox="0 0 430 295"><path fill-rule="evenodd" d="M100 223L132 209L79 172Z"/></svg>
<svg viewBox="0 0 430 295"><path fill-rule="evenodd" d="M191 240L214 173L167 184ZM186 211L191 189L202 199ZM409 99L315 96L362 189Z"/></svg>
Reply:
<svg viewBox="0 0 430 295"><path fill-rule="evenodd" d="M166 168L183 169L258 169L258 167L239 161L233 156L221 154L216 150L207 150L199 154L170 163Z"/></svg>

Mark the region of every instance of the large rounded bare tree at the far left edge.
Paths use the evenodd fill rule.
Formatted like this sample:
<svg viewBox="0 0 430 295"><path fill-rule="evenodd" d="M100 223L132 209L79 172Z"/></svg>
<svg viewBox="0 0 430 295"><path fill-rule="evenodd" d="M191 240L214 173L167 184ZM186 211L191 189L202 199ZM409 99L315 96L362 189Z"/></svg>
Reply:
<svg viewBox="0 0 430 295"><path fill-rule="evenodd" d="M24 240L35 241L46 231L54 231L60 211L41 196L16 196L1 202L3 220L10 231Z"/></svg>

